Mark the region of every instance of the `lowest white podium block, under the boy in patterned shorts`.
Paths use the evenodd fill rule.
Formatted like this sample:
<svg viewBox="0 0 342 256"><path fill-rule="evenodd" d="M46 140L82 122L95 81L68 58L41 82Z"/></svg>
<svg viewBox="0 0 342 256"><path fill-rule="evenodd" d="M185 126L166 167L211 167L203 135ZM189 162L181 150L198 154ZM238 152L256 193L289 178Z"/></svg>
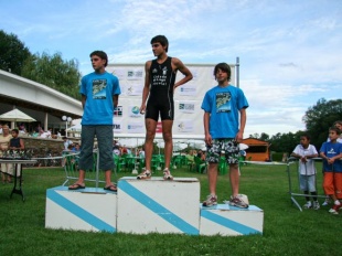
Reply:
<svg viewBox="0 0 342 256"><path fill-rule="evenodd" d="M201 204L200 235L263 234L264 211L255 205L239 209L228 204L203 207Z"/></svg>

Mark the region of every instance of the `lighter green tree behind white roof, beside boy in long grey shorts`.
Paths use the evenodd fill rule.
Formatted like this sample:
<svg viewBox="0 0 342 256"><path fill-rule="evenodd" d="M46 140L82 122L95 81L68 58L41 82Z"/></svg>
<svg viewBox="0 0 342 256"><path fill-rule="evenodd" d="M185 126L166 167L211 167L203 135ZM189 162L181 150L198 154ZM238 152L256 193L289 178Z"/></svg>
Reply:
<svg viewBox="0 0 342 256"><path fill-rule="evenodd" d="M43 52L31 55L23 66L21 75L54 88L73 98L81 99L78 62L63 61L61 53L50 56Z"/></svg>

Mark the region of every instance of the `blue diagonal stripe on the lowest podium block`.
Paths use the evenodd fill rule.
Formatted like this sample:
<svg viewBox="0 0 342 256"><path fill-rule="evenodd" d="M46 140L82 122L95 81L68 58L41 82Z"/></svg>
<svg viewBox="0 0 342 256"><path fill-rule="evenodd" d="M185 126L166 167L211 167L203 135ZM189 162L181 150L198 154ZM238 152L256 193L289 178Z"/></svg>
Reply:
<svg viewBox="0 0 342 256"><path fill-rule="evenodd" d="M225 226L229 230L233 230L239 234L243 235L249 235L249 234L261 234L261 232L250 227L246 226L244 224L241 224L238 222L234 222L232 220L225 218L223 216L220 216L211 211L202 210L201 216L207 218L209 221L212 221L214 223L217 223L218 225Z"/></svg>

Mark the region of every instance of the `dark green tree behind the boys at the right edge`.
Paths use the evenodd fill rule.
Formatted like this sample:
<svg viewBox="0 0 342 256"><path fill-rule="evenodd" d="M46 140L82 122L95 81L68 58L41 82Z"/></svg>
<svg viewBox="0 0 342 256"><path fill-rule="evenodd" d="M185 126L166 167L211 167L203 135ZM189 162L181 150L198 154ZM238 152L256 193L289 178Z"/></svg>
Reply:
<svg viewBox="0 0 342 256"><path fill-rule="evenodd" d="M336 120L342 120L342 99L327 102L321 98L306 111L303 121L308 134L311 135L311 143L318 150L327 141L329 127Z"/></svg>

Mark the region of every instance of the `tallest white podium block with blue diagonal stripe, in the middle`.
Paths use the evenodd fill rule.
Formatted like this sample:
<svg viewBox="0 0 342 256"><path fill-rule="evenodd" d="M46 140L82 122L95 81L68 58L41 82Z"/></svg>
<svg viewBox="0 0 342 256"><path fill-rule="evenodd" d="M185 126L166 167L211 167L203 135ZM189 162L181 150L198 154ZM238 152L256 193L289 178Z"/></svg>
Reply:
<svg viewBox="0 0 342 256"><path fill-rule="evenodd" d="M117 232L199 235L200 182L194 178L118 181Z"/></svg>

